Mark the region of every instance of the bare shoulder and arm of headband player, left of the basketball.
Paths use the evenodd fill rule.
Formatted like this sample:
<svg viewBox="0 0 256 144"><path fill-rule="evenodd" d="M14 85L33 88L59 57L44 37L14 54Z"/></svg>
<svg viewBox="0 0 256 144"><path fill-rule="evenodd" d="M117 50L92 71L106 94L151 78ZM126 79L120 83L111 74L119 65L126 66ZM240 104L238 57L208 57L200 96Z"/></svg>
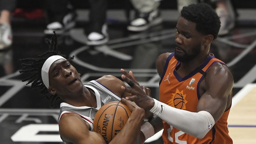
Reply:
<svg viewBox="0 0 256 144"><path fill-rule="evenodd" d="M89 125L86 125L86 121L75 113L67 113L62 115L62 118L59 121L59 133L66 143L106 143L100 134L89 131Z"/></svg>

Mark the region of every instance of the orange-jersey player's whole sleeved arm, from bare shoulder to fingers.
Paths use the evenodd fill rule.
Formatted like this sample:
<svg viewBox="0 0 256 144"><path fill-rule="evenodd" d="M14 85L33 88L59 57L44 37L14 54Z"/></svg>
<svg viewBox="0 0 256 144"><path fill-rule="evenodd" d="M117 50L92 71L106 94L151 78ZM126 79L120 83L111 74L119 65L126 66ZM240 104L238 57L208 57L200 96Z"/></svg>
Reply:
<svg viewBox="0 0 256 144"><path fill-rule="evenodd" d="M127 78L127 72L123 71L123 74L122 78L126 82L129 82L130 79ZM203 138L225 111L227 98L233 86L232 74L225 66L214 64L209 71L207 71L205 79L207 84L205 93L202 94L202 99L200 98L198 104L198 112L176 109L156 99L152 99L145 93L142 93L138 85L134 85L131 89L126 89L125 87L122 87L122 89L133 94L132 97L126 99L135 101L139 107L150 109L150 111L159 118L184 133L197 138ZM219 82L219 80L221 80L221 82ZM217 92L215 92L215 89L217 89ZM211 99L209 99L209 97L211 97ZM216 107L217 103L220 104ZM215 108L213 109L213 107Z"/></svg>

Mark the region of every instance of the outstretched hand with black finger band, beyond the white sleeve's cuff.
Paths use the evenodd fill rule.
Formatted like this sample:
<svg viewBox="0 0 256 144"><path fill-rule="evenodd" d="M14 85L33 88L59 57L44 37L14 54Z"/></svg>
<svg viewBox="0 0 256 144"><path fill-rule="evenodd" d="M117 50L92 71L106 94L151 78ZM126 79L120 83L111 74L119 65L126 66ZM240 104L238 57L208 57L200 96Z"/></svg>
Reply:
<svg viewBox="0 0 256 144"><path fill-rule="evenodd" d="M127 73L124 69L121 69L123 75L121 76L122 79L131 86L131 88L122 86L121 89L125 90L127 93L130 93L131 97L126 97L127 100L134 101L139 107L150 110L154 106L154 100L151 98L150 89L143 90L143 87L139 85L139 83L135 80L132 72ZM132 75L131 75L132 74ZM147 95L149 94L149 95Z"/></svg>

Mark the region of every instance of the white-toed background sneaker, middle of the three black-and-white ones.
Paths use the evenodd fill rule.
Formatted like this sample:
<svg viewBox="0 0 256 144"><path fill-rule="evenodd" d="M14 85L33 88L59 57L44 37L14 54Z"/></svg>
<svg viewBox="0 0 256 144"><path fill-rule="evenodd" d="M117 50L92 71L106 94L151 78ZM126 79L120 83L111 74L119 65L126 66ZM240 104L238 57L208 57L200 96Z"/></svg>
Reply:
<svg viewBox="0 0 256 144"><path fill-rule="evenodd" d="M109 41L107 33L107 24L102 26L101 33L91 32L86 39L87 45L103 45Z"/></svg>

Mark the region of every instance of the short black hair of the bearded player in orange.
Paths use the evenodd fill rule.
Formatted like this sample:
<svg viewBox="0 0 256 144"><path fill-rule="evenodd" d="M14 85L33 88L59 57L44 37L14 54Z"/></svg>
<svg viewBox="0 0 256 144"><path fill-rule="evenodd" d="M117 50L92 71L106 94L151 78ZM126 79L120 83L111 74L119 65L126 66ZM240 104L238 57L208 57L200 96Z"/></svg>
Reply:
<svg viewBox="0 0 256 144"><path fill-rule="evenodd" d="M195 29L202 34L211 34L213 39L218 37L221 21L215 10L206 3L184 6L181 17L196 23Z"/></svg>

